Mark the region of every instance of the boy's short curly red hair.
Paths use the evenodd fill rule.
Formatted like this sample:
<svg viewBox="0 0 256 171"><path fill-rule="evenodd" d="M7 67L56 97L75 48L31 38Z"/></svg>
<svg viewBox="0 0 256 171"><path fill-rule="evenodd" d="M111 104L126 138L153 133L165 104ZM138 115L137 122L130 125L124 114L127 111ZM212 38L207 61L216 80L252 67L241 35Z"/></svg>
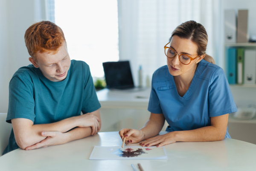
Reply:
<svg viewBox="0 0 256 171"><path fill-rule="evenodd" d="M34 59L37 51L56 54L66 42L61 28L50 21L33 24L26 30L24 37L29 55Z"/></svg>

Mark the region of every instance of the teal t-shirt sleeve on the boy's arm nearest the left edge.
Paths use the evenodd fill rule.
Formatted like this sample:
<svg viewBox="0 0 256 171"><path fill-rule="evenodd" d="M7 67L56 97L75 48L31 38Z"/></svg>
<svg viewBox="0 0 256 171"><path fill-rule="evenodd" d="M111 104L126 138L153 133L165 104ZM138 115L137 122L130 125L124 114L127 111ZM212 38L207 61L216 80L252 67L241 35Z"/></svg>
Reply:
<svg viewBox="0 0 256 171"><path fill-rule="evenodd" d="M6 122L11 123L15 118L35 121L33 86L21 75L13 77L9 84L9 108Z"/></svg>

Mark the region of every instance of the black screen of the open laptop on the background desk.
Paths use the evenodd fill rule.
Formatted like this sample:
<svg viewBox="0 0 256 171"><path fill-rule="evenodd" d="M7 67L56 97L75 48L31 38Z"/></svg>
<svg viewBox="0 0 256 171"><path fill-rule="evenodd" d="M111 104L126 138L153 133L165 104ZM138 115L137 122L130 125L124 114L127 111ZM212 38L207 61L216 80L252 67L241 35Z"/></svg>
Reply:
<svg viewBox="0 0 256 171"><path fill-rule="evenodd" d="M103 63L107 88L134 88L129 61Z"/></svg>

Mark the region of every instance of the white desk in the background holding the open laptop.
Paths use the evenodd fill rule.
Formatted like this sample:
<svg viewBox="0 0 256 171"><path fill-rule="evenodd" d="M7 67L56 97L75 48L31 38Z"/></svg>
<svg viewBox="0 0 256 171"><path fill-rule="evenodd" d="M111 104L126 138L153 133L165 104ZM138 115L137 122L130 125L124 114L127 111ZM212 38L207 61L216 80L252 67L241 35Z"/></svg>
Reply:
<svg viewBox="0 0 256 171"><path fill-rule="evenodd" d="M97 91L100 114L104 122L100 131L119 131L122 128L140 129L148 121L148 101L151 88L134 90ZM165 131L167 122L163 126Z"/></svg>

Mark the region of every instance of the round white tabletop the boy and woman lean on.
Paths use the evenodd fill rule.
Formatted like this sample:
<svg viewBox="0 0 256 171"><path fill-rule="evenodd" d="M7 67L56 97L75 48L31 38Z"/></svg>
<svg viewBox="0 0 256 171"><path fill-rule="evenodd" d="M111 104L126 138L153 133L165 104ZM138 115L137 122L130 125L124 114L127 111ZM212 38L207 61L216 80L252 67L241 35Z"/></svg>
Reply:
<svg viewBox="0 0 256 171"><path fill-rule="evenodd" d="M31 151L17 149L0 157L0 170L133 171L131 164L137 167L138 162L145 171L256 170L256 145L233 139L169 144L165 146L168 160L89 160L94 145L121 146L122 140L118 132L100 132L63 145Z"/></svg>

